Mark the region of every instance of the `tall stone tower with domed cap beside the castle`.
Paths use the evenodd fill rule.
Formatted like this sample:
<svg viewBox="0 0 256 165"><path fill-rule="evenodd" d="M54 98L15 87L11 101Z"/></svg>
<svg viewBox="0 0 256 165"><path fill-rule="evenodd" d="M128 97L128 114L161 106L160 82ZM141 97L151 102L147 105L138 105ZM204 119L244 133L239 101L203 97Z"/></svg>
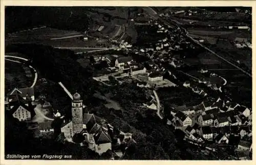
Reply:
<svg viewBox="0 0 256 165"><path fill-rule="evenodd" d="M82 131L82 100L78 93L73 95L72 101L73 135Z"/></svg>

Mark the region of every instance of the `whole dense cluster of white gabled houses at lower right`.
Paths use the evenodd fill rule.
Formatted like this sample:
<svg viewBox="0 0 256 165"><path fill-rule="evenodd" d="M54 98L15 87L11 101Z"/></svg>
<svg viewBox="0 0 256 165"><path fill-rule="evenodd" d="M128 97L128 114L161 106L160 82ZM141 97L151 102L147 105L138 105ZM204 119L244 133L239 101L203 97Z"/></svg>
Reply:
<svg viewBox="0 0 256 165"><path fill-rule="evenodd" d="M228 144L235 146L240 154L251 150L252 111L246 106L218 98L196 106L178 106L170 113L174 116L173 125L183 130L188 140L198 144Z"/></svg>

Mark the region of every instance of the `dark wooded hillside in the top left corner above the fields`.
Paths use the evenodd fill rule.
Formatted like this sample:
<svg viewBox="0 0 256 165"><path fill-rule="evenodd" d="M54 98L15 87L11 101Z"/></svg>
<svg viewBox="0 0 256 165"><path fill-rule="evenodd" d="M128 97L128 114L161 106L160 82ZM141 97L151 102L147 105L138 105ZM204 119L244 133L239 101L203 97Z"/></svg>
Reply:
<svg viewBox="0 0 256 165"><path fill-rule="evenodd" d="M8 33L42 25L84 32L88 29L90 22L90 18L82 7L9 6L6 7L5 12L6 32Z"/></svg>

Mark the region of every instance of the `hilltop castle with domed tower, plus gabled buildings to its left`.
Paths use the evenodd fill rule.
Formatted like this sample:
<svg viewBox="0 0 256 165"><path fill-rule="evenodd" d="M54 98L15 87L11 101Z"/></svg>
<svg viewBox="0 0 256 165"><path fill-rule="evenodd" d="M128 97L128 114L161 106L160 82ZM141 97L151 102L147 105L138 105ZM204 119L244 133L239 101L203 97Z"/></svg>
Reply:
<svg viewBox="0 0 256 165"><path fill-rule="evenodd" d="M80 145L87 145L99 155L107 152L111 159L121 158L129 145L136 143L131 133L124 133L114 128L92 113L84 113L87 109L82 104L78 93L73 95L71 119L62 116L58 111L53 113L52 119L46 117L44 110L54 111L51 104L49 102L39 104L35 101L33 88L15 88L8 94L5 101L5 110L9 117L17 119L18 122L26 122L30 130L34 128L39 130L39 135L35 137L56 131L66 140L74 143L74 135L79 134L84 137ZM37 106L40 107L38 114L35 111ZM41 120L38 121L37 118Z"/></svg>

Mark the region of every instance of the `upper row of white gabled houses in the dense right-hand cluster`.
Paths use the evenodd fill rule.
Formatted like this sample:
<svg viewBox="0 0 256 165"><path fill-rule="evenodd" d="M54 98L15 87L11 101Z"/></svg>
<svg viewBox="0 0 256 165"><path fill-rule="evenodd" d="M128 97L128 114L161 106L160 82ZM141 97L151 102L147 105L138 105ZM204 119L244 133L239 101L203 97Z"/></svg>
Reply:
<svg viewBox="0 0 256 165"><path fill-rule="evenodd" d="M178 106L170 112L180 122L180 126L192 124L188 115L198 115L198 123L201 126L213 125L215 127L251 125L251 110L239 104L221 101L220 98L214 103L202 102L196 106Z"/></svg>

